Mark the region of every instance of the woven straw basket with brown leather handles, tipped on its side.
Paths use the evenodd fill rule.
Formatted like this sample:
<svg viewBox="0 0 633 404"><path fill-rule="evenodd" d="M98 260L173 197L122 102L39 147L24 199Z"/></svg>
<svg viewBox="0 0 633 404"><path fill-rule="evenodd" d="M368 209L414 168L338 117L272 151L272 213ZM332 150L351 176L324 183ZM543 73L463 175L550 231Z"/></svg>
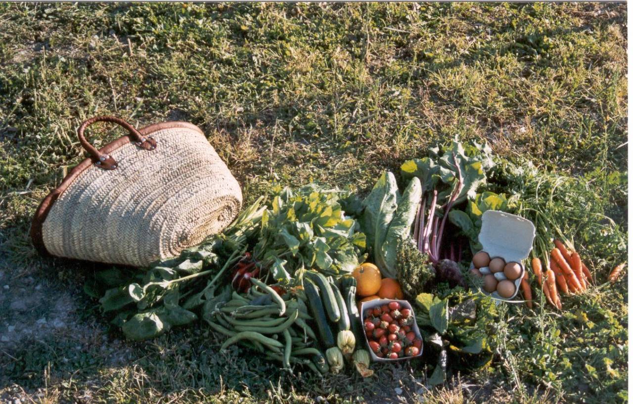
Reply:
<svg viewBox="0 0 633 404"><path fill-rule="evenodd" d="M130 134L97 150L94 122ZM187 122L135 129L115 117L77 131L82 161L35 212L31 237L46 255L143 267L220 232L237 215L242 191L203 132Z"/></svg>

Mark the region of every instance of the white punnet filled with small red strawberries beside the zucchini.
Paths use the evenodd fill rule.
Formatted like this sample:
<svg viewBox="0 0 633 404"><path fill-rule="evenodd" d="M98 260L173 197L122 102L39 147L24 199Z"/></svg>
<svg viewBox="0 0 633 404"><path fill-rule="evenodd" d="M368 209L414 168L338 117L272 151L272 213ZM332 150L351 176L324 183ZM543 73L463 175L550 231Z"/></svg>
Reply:
<svg viewBox="0 0 633 404"><path fill-rule="evenodd" d="M413 322L411 309L401 308L397 301L365 310L363 328L369 348L379 358L415 357L422 340L415 336Z"/></svg>

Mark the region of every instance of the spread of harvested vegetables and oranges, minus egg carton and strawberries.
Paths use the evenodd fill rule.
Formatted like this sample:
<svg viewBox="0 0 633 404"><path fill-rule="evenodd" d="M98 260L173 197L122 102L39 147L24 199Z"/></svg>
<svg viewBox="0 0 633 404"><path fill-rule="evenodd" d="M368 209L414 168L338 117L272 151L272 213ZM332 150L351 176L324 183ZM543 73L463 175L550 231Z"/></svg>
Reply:
<svg viewBox="0 0 633 404"><path fill-rule="evenodd" d="M316 184L277 187L268 202L257 199L196 248L144 273L99 273L85 289L130 339L201 318L223 340L222 350L239 344L290 372L338 373L348 363L370 377L365 348L382 360L423 352L413 363L430 369L429 385L440 384L454 372L488 365L500 346L492 332L499 301L483 293L494 288L477 276L477 268L493 268L500 259L491 259L479 241L486 211L515 213L536 225L534 278L508 263L529 309L545 302L561 309L562 296L584 293L595 282L591 265L565 237L563 223L572 215L553 208L571 180L530 167L493 158L485 144L455 139L405 161L402 192L391 172L364 199ZM587 229L613 225L601 220ZM403 298L415 316L394 301ZM361 313L375 299L388 303Z"/></svg>

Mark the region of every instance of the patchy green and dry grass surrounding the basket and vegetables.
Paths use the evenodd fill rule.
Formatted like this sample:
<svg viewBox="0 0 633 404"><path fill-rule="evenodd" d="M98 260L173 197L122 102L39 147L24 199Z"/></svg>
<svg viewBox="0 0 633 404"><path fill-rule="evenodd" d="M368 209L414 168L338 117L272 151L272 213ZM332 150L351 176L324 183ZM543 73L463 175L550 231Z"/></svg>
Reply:
<svg viewBox="0 0 633 404"><path fill-rule="evenodd" d="M381 367L372 383L291 379L261 358L217 353L199 326L119 341L79 290L95 265L41 258L28 239L39 201L83 158L75 129L101 114L199 125L247 201L277 182L367 191L438 139L482 139L589 181L584 203L626 233L626 17L624 4L595 3L0 4L0 281L13 291L30 277L79 307L77 332L3 348L0 398L627 401L624 281L562 314L508 308L492 366L425 392L409 365ZM121 134L90 131L97 146ZM599 234L576 241L605 282L621 249ZM37 319L8 305L0 299L0 334Z"/></svg>

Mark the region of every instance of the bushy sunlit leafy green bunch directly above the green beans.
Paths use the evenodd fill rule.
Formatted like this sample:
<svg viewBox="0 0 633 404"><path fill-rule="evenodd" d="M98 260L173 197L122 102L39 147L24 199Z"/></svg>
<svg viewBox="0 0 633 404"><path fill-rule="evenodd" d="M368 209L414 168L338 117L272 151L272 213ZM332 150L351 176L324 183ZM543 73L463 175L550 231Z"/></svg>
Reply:
<svg viewBox="0 0 633 404"><path fill-rule="evenodd" d="M356 220L346 216L341 199L353 205L349 191L315 184L296 191L277 188L272 205L263 213L254 258L282 283L293 281L301 268L326 275L353 271L365 250L365 234Z"/></svg>

